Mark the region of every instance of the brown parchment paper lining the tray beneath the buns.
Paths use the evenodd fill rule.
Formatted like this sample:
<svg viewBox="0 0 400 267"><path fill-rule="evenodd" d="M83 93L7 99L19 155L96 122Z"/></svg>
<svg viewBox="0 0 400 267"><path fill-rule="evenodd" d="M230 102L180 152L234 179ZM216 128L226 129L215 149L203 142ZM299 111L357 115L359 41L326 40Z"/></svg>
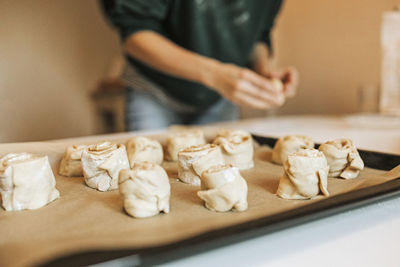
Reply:
<svg viewBox="0 0 400 267"><path fill-rule="evenodd" d="M165 135L154 137L165 140ZM68 144L89 144L101 138L83 140L0 145L0 156L10 152L48 155L61 194L60 199L38 210L6 212L0 209L0 266L31 266L85 250L164 245L323 198L278 198L275 191L283 168L270 163L270 148L262 146L256 149L255 167L242 172L249 188L247 211L216 213L207 210L196 195L199 187L179 182L174 165L167 164L171 182L170 213L135 219L123 211L118 190L99 192L87 187L81 177L58 175L59 161ZM116 141L125 143L126 138ZM333 196L399 176L399 167L389 173L365 169L354 180L329 178L328 190Z"/></svg>

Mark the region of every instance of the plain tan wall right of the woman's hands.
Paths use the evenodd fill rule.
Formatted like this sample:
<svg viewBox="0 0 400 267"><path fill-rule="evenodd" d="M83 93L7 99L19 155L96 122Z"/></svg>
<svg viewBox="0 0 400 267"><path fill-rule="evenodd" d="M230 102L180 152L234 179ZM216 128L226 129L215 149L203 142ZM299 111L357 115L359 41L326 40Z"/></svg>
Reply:
<svg viewBox="0 0 400 267"><path fill-rule="evenodd" d="M279 113L357 111L359 88L380 83L381 15L396 4L287 0L275 31L277 64L296 66L301 84Z"/></svg>

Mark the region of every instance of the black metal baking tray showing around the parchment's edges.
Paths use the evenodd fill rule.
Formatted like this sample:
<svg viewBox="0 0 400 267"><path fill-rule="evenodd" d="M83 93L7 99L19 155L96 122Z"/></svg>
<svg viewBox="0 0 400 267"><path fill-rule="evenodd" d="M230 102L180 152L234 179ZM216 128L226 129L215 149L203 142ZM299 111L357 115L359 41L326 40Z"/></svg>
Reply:
<svg viewBox="0 0 400 267"><path fill-rule="evenodd" d="M276 138L256 135L253 137L260 144L271 147L277 141ZM400 164L400 155L366 150L359 150L359 153L366 167L388 171ZM399 195L400 178L397 178L285 212L205 232L167 245L141 249L89 250L62 256L40 266L85 266L120 258L124 258L123 262L130 266L155 265L266 235Z"/></svg>

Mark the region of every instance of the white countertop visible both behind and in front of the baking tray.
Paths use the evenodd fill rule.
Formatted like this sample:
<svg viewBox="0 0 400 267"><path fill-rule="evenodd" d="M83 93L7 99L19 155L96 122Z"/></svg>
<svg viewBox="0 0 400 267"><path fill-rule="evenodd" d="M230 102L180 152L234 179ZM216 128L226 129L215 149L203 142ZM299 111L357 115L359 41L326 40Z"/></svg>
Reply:
<svg viewBox="0 0 400 267"><path fill-rule="evenodd" d="M398 118L373 120L296 116L243 121L239 127L265 136L306 134L316 142L347 137L359 148L400 154ZM164 266L400 266L399 249L400 197Z"/></svg>

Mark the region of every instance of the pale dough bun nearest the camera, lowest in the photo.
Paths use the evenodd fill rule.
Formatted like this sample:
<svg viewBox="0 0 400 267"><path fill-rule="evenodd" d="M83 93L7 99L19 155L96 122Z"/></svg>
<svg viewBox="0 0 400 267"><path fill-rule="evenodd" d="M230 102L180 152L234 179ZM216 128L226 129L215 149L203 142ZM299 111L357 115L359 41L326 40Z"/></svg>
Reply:
<svg viewBox="0 0 400 267"><path fill-rule="evenodd" d="M135 163L119 174L119 191L125 211L136 218L169 212L170 184L167 173L157 164Z"/></svg>

